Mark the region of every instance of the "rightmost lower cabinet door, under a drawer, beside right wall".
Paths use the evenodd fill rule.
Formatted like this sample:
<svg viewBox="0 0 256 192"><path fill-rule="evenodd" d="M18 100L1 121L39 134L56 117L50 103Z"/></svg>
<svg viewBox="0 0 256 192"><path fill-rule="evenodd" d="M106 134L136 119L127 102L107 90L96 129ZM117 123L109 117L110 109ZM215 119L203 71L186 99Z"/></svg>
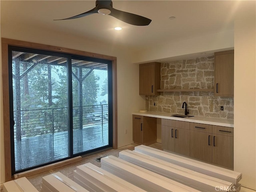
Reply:
<svg viewBox="0 0 256 192"><path fill-rule="evenodd" d="M213 134L212 163L234 169L234 137Z"/></svg>

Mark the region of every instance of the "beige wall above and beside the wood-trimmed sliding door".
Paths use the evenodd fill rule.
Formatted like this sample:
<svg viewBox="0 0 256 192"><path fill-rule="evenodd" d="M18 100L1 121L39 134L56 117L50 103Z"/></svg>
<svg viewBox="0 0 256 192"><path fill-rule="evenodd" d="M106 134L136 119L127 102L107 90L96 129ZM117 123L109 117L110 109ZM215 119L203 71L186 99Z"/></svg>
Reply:
<svg viewBox="0 0 256 192"><path fill-rule="evenodd" d="M17 33L18 31L18 33ZM117 57L117 90L118 90L118 147L133 143L132 141L132 115L134 111L144 108L145 101L138 94L138 65L132 64L131 52L115 44L102 44L91 42L78 36L70 36L69 34L60 34L49 30L31 28L29 26L2 26L1 37L48 44L53 46L61 46L76 50L83 50ZM2 66L2 65L1 65ZM2 82L2 77L1 77ZM0 85L0 93L2 93L2 83ZM4 182L4 142L3 142L3 126L2 126L2 97L0 102L1 113L1 180ZM127 134L124 134L127 130Z"/></svg>

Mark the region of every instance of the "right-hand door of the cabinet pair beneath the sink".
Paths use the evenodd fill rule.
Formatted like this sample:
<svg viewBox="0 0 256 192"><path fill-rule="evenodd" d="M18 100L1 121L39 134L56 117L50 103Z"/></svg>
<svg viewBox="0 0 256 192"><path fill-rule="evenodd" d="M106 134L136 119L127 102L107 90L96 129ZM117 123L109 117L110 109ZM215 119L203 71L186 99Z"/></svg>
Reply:
<svg viewBox="0 0 256 192"><path fill-rule="evenodd" d="M189 156L189 130L175 128L175 153Z"/></svg>

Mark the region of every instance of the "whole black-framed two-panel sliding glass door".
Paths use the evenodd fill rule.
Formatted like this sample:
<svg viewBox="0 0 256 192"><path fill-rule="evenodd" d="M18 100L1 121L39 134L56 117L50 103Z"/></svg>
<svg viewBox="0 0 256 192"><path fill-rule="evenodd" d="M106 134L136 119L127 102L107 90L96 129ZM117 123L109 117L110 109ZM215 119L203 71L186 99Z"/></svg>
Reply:
<svg viewBox="0 0 256 192"><path fill-rule="evenodd" d="M111 62L9 47L12 174L112 146Z"/></svg>

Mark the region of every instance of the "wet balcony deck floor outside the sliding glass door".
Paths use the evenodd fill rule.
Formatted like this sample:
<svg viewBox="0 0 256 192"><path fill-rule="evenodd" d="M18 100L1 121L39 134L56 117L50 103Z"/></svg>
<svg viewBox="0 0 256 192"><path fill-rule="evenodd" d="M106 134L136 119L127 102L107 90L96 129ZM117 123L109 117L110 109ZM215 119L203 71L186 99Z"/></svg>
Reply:
<svg viewBox="0 0 256 192"><path fill-rule="evenodd" d="M38 166L69 156L68 131L14 139L15 169ZM108 120L84 124L73 130L74 154L108 145Z"/></svg>

